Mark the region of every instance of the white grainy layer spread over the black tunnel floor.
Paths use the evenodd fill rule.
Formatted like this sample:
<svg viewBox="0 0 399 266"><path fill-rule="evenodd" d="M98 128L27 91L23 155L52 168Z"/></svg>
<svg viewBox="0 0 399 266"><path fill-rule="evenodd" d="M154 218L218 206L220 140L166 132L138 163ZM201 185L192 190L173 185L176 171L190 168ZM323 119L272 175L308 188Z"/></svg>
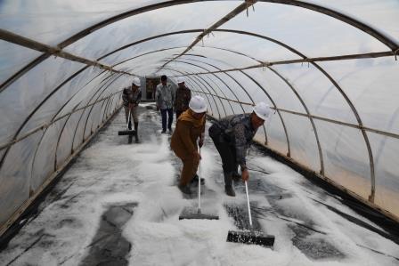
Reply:
<svg viewBox="0 0 399 266"><path fill-rule="evenodd" d="M242 184L236 184L237 197L224 195L220 157L209 139L199 169L207 182L202 211L220 219L179 221L197 200L175 187L182 165L169 149L170 136L159 133L159 115L142 108L140 119L141 143L127 144L118 136L124 128L118 113L0 253L0 265L78 265L94 245L102 214L129 203L138 204L121 229L132 245L129 265L399 264L398 245L331 208L377 225L256 148L248 155L249 197L254 219L275 236L273 249L225 241L228 230L237 230L225 206L245 206L246 197Z"/></svg>

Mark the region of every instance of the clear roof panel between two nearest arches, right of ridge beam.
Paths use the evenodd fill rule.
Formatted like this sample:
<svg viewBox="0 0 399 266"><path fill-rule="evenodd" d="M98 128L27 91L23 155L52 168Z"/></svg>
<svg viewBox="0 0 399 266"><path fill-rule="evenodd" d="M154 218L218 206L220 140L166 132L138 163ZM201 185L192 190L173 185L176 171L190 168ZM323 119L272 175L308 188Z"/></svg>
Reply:
<svg viewBox="0 0 399 266"><path fill-rule="evenodd" d="M387 46L345 22L301 7L257 2L220 28L270 36L309 57L387 51ZM339 37L337 37L339 33Z"/></svg>

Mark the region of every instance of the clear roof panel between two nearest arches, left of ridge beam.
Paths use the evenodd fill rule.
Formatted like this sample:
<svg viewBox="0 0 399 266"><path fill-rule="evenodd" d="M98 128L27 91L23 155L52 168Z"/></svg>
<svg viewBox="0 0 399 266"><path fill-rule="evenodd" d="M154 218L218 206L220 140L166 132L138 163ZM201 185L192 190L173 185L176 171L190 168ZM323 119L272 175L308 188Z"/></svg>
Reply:
<svg viewBox="0 0 399 266"><path fill-rule="evenodd" d="M223 1L181 4L145 12L94 31L70 44L66 50L95 59L120 46L150 36L176 30L208 28L236 6L235 2ZM209 13L209 10L213 12ZM204 13L207 13L207 16L204 16ZM110 42L110 38L113 42Z"/></svg>

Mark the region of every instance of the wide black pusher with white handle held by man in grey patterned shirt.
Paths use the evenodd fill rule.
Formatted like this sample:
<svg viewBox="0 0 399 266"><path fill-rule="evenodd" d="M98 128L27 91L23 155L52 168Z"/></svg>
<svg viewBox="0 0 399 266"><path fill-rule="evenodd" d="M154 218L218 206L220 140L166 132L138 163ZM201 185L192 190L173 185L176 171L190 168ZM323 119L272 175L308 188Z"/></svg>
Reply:
<svg viewBox="0 0 399 266"><path fill-rule="evenodd" d="M274 236L264 235L261 231L256 231L252 228L251 209L249 207L248 185L245 181L245 192L247 194L248 216L249 216L249 230L248 231L232 231L229 230L227 234L227 242L237 242L248 245L270 246L274 244Z"/></svg>

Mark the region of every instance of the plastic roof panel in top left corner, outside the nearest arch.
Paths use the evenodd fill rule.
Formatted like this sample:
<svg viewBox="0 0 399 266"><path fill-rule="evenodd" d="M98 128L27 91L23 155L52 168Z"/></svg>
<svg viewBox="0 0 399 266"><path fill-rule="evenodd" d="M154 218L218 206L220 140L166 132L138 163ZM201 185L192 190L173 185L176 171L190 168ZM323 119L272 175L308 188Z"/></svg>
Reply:
<svg viewBox="0 0 399 266"><path fill-rule="evenodd" d="M13 33L45 44L59 44L78 31L126 10L162 0L4 0L0 25Z"/></svg>

